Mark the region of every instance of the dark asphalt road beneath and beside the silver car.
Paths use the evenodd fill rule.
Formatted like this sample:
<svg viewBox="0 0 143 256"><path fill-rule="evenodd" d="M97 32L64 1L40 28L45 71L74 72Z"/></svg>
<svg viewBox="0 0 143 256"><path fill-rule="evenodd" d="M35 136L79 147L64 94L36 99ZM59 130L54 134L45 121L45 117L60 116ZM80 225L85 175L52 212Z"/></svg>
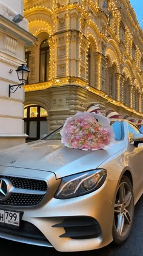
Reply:
<svg viewBox="0 0 143 256"><path fill-rule="evenodd" d="M0 240L0 256L75 256L76 254L76 252L57 252L53 248ZM88 254L90 256L143 256L143 196L136 204L133 229L126 243L120 246L111 243L102 249L78 252L78 256Z"/></svg>

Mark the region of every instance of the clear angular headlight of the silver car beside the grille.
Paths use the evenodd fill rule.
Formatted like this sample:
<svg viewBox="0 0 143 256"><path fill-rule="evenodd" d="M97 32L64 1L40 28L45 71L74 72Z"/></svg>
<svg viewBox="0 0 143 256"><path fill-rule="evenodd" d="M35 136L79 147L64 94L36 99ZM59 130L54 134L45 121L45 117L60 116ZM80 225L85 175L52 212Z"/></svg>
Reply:
<svg viewBox="0 0 143 256"><path fill-rule="evenodd" d="M107 176L105 169L95 169L62 178L55 197L67 199L91 193L102 186Z"/></svg>

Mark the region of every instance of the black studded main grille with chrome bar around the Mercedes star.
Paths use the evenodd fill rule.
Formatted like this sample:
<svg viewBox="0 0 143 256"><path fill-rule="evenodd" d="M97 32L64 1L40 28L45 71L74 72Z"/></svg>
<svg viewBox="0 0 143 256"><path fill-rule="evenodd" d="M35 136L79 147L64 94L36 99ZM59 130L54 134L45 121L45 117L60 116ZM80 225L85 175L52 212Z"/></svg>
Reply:
<svg viewBox="0 0 143 256"><path fill-rule="evenodd" d="M35 206L42 201L47 193L48 185L45 180L0 175L1 178L10 180L13 191L7 200L0 201L0 205Z"/></svg>

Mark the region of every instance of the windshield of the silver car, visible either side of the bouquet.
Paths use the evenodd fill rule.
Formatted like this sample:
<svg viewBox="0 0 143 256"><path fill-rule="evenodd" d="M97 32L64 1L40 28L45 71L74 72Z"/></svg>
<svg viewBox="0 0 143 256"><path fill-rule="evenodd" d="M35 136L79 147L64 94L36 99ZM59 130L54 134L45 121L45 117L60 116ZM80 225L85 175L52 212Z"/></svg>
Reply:
<svg viewBox="0 0 143 256"><path fill-rule="evenodd" d="M115 133L115 140L122 140L122 122L113 121L111 122L111 126L113 127L113 131ZM60 130L62 126L58 129L54 130L52 133L49 133L46 137L42 138L42 140L61 140Z"/></svg>

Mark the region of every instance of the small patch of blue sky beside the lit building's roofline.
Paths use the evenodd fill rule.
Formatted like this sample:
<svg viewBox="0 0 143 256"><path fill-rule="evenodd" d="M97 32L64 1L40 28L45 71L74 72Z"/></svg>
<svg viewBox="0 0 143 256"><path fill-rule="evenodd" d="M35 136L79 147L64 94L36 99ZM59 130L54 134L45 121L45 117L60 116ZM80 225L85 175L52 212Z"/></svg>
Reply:
<svg viewBox="0 0 143 256"><path fill-rule="evenodd" d="M139 25L143 29L143 0L130 0L130 4L135 10Z"/></svg>

